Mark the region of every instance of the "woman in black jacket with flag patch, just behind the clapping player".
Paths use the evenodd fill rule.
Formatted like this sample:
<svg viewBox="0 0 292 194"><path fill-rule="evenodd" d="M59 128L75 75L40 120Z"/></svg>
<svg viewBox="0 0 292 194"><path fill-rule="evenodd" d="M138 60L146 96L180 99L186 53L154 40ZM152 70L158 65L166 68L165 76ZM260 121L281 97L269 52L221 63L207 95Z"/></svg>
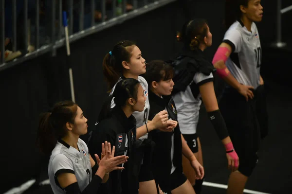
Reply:
<svg viewBox="0 0 292 194"><path fill-rule="evenodd" d="M113 97L116 106L110 109L110 102ZM91 154L99 155L102 151L100 150L100 144L108 141L115 146L115 156L126 155L129 157L129 163L123 165L124 170L110 174L107 188L103 188L105 193L138 193L139 165L136 164L141 164L143 155L139 155L139 145L135 144L136 120L132 113L143 111L145 101L144 90L138 80L133 78L121 80L104 104L96 129L91 132L88 143ZM103 156L99 157L102 158Z"/></svg>

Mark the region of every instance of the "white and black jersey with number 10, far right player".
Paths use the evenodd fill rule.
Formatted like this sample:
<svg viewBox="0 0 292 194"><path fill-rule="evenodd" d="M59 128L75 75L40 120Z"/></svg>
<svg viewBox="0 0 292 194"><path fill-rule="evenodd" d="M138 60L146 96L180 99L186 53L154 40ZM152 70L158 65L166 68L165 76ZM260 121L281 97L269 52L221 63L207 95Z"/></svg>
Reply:
<svg viewBox="0 0 292 194"><path fill-rule="evenodd" d="M226 31L223 42L232 47L226 66L237 81L243 85L259 86L262 50L256 24L249 32L241 21L234 22Z"/></svg>

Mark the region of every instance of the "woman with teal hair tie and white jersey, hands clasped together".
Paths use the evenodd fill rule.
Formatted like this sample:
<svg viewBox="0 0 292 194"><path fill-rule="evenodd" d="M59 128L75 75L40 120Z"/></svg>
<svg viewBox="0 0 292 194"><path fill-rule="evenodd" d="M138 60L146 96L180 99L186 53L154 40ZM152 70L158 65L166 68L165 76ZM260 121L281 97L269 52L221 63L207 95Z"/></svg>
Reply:
<svg viewBox="0 0 292 194"><path fill-rule="evenodd" d="M146 72L146 62L142 57L142 53L133 42L124 40L113 46L113 49L106 54L103 60L103 73L106 81L111 89L111 93L114 91L115 84L123 78L137 79L146 97L146 104L144 111L134 112L133 116L137 121L137 140L144 141L147 138L148 132L154 129L160 129L164 131L172 131L173 123L168 122L167 112L161 111L158 113L152 121L148 121L149 115L149 100L148 100L148 84L146 80L139 76ZM111 107L114 107L112 103ZM167 128L168 127L168 128ZM155 194L156 184L151 171L151 157L152 148L146 149L143 164L140 169L139 182L140 182L140 194Z"/></svg>

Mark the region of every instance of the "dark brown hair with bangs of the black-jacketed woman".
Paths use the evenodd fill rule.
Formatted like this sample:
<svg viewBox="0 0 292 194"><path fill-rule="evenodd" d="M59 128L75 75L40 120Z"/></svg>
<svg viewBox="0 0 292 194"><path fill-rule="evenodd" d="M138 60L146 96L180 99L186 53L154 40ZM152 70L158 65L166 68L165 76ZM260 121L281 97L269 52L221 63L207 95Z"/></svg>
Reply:
<svg viewBox="0 0 292 194"><path fill-rule="evenodd" d="M146 73L142 75L147 83L148 87L152 88L152 82L160 82L170 80L173 77L173 69L171 65L161 60L153 60L147 63Z"/></svg>

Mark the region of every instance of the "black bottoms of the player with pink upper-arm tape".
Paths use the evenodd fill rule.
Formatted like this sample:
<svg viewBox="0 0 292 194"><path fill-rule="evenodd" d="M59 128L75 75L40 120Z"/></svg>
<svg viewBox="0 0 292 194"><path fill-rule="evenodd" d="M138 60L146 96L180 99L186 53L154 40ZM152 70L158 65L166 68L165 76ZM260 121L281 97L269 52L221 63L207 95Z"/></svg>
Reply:
<svg viewBox="0 0 292 194"><path fill-rule="evenodd" d="M235 89L225 89L219 102L229 136L239 158L238 171L250 176L258 160L260 127L255 98L247 102Z"/></svg>

